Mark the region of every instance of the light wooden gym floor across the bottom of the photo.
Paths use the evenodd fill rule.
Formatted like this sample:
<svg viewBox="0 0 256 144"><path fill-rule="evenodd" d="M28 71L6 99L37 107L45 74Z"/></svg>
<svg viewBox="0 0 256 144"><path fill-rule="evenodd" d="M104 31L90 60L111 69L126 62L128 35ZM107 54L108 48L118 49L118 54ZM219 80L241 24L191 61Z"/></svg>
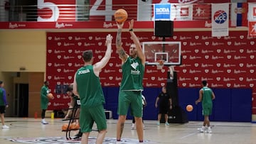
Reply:
<svg viewBox="0 0 256 144"><path fill-rule="evenodd" d="M41 124L40 118L6 118L9 129L0 130L1 144L16 143L80 143L79 140L66 140L61 126L67 121L60 118L46 118L48 125ZM117 120L107 120L107 135L104 143L116 143ZM137 143L137 132L131 130L131 120L124 125L122 143ZM213 133L199 133L201 121L185 124L171 123L170 126L156 125L156 121L144 121L144 143L159 144L256 144L256 123L211 122ZM96 129L96 128L95 128ZM78 131L71 131L74 136ZM97 131L90 134L90 143L95 143Z"/></svg>

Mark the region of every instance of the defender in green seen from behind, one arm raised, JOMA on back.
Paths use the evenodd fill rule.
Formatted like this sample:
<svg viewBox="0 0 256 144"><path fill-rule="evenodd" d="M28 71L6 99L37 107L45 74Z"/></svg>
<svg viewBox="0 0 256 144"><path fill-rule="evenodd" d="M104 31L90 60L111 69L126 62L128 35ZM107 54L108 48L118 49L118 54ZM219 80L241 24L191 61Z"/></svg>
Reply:
<svg viewBox="0 0 256 144"><path fill-rule="evenodd" d="M92 50L85 50L82 53L83 67L75 73L73 92L80 97L80 131L82 133L81 144L88 143L88 137L92 131L93 123L97 124L99 131L96 143L103 143L107 133L107 123L103 104L105 97L102 92L99 74L110 60L112 51L112 35L106 37L107 50L100 62L92 65Z"/></svg>

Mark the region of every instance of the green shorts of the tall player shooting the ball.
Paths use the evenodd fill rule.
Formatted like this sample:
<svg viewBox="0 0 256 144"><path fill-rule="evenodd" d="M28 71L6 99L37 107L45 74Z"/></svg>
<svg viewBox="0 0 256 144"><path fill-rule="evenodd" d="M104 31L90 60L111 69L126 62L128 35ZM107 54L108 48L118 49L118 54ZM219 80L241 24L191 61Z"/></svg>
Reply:
<svg viewBox="0 0 256 144"><path fill-rule="evenodd" d="M129 107L131 115L134 117L142 117L142 92L141 91L119 91L118 109L119 115L127 115Z"/></svg>

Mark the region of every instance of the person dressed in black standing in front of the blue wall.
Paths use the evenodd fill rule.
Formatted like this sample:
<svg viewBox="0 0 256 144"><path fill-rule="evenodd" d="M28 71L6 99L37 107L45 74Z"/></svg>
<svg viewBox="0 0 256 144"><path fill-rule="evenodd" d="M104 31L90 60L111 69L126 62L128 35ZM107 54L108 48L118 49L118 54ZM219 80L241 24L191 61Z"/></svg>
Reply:
<svg viewBox="0 0 256 144"><path fill-rule="evenodd" d="M166 87L162 87L161 93L156 97L156 108L159 107L159 113L157 118L157 125L160 125L161 115L164 114L165 125L169 126L168 123L168 112L172 109L171 96L167 94Z"/></svg>

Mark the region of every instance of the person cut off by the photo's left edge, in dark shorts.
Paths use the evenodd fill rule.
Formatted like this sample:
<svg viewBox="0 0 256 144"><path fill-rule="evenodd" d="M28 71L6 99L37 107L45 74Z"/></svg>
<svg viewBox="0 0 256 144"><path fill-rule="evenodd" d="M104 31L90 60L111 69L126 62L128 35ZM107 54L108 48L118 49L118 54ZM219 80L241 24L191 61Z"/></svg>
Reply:
<svg viewBox="0 0 256 144"><path fill-rule="evenodd" d="M4 82L0 81L0 116L3 129L9 128L9 126L6 126L4 123L4 113L6 112L6 108L8 108L6 90L4 89Z"/></svg>

